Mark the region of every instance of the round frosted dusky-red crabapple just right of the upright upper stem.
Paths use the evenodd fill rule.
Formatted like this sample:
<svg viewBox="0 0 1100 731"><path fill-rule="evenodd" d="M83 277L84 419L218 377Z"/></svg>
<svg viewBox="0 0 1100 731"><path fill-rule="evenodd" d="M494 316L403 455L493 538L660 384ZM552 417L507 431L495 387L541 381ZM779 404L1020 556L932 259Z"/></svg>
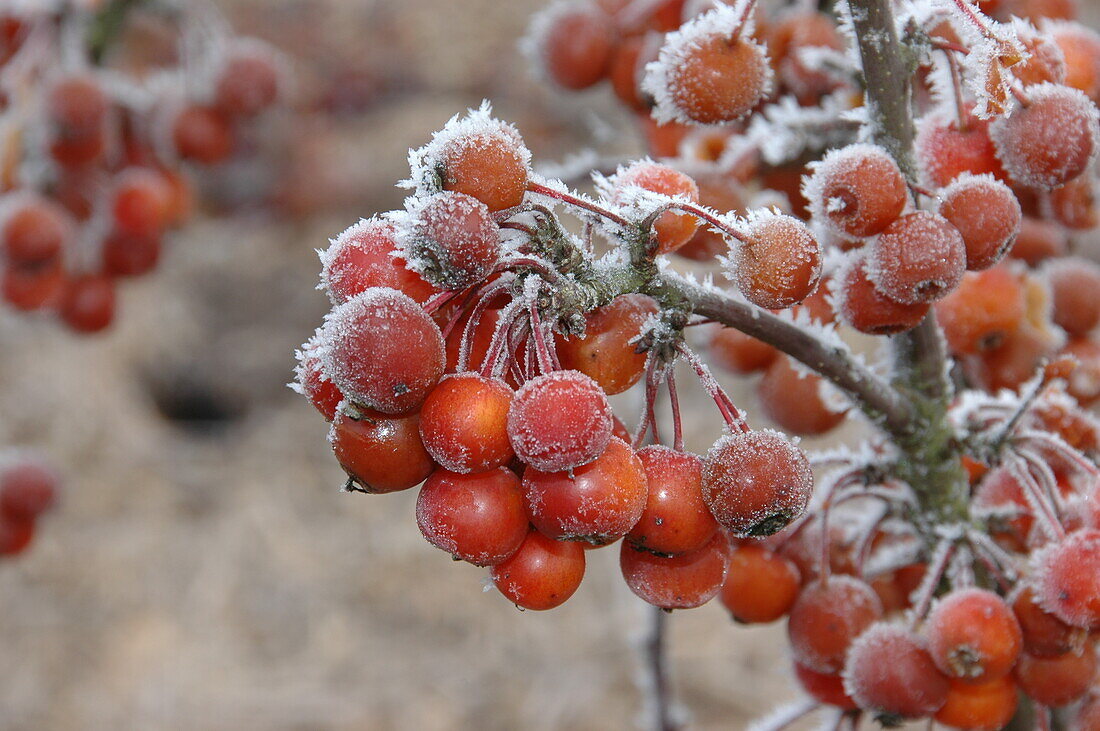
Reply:
<svg viewBox="0 0 1100 731"><path fill-rule="evenodd" d="M867 257L867 274L890 299L920 304L955 289L966 263L966 244L958 229L942 215L916 211L879 234Z"/></svg>

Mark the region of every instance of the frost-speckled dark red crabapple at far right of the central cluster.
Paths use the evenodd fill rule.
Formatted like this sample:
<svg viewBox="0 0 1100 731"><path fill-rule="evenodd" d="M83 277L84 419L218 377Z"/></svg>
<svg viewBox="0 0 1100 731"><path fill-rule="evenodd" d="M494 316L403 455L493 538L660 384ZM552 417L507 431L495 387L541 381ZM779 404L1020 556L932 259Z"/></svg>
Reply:
<svg viewBox="0 0 1100 731"><path fill-rule="evenodd" d="M706 455L703 499L738 538L780 531L802 514L812 492L805 452L779 432L728 434Z"/></svg>

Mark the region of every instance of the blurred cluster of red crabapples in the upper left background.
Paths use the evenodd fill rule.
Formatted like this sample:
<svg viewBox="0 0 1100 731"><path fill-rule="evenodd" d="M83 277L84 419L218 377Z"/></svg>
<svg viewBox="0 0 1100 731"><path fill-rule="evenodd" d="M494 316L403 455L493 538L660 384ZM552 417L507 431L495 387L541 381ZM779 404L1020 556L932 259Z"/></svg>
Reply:
<svg viewBox="0 0 1100 731"><path fill-rule="evenodd" d="M127 12L155 46L123 32L94 48L99 16L68 4L0 11L0 298L78 333L111 323L117 283L190 217L190 169L229 159L282 84L257 42Z"/></svg>

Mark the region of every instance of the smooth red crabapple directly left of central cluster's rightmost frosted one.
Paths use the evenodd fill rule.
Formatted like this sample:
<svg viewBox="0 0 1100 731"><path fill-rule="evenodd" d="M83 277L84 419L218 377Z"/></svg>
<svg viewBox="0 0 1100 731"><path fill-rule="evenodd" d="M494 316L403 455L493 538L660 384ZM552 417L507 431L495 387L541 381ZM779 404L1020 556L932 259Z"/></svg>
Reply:
<svg viewBox="0 0 1100 731"><path fill-rule="evenodd" d="M718 530L703 501L703 461L660 444L639 450L638 458L646 472L648 497L626 540L667 555L701 549Z"/></svg>

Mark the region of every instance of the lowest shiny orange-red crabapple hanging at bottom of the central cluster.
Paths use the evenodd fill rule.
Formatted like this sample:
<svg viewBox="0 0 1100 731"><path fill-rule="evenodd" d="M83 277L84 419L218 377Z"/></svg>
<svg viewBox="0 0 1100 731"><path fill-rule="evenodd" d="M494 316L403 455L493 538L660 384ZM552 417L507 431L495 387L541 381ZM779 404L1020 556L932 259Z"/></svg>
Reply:
<svg viewBox="0 0 1100 731"><path fill-rule="evenodd" d="M584 549L554 541L536 530L527 533L516 553L493 566L497 590L524 609L546 610L563 605L584 578Z"/></svg>

